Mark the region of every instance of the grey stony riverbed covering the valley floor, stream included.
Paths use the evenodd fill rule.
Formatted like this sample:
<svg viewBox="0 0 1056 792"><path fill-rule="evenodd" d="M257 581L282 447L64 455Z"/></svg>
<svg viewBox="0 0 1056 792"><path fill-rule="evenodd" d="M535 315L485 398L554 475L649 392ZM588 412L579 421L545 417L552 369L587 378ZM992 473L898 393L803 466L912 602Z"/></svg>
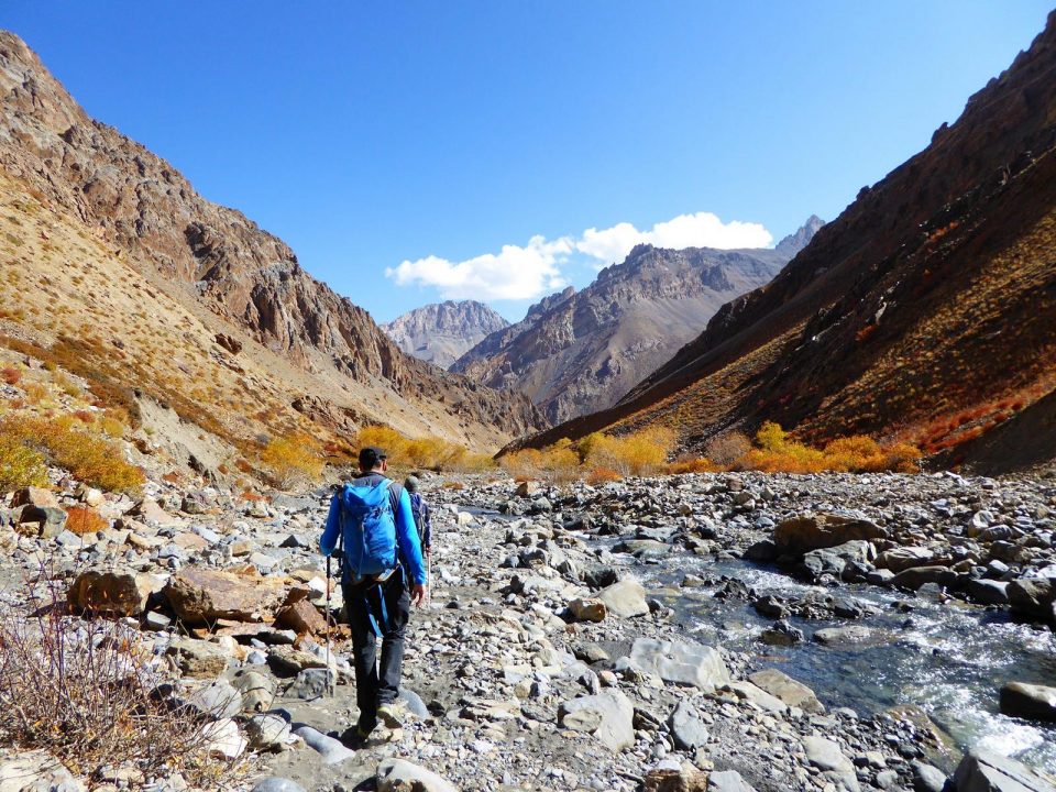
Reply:
<svg viewBox="0 0 1056 792"><path fill-rule="evenodd" d="M407 716L358 751L333 739L356 711L348 644L326 650L327 491L18 494L6 606L47 553L73 604L134 626L179 675L238 789L1056 784L1052 479L426 482L433 587ZM109 528L77 536L65 515L87 499ZM4 767L0 790L25 789Z"/></svg>

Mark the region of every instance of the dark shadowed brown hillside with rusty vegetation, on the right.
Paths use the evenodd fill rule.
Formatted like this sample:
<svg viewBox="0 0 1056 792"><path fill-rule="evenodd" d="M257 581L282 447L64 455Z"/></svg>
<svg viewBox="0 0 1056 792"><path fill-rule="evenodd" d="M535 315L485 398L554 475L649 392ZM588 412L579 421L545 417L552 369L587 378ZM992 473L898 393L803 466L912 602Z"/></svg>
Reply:
<svg viewBox="0 0 1056 792"><path fill-rule="evenodd" d="M613 409L532 442L659 422L700 448L772 419L934 452L990 431L1056 386L1054 147L1056 13L772 283L724 306Z"/></svg>

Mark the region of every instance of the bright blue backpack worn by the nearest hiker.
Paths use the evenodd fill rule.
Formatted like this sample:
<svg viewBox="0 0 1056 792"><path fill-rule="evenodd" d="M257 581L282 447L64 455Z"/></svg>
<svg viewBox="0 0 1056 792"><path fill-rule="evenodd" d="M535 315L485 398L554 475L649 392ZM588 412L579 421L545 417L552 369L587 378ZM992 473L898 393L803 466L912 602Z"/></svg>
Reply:
<svg viewBox="0 0 1056 792"><path fill-rule="evenodd" d="M345 574L353 579L381 575L396 566L396 515L392 482L374 486L345 484L341 491L341 537Z"/></svg>

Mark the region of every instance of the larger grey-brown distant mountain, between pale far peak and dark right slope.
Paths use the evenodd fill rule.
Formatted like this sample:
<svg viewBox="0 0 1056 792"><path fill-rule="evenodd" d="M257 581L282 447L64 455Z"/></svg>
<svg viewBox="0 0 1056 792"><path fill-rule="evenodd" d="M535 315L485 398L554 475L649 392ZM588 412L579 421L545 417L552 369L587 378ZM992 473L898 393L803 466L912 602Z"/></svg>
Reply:
<svg viewBox="0 0 1056 792"><path fill-rule="evenodd" d="M812 216L774 250L638 245L582 292L551 295L493 332L451 371L527 394L552 422L610 407L723 304L769 283L822 226Z"/></svg>

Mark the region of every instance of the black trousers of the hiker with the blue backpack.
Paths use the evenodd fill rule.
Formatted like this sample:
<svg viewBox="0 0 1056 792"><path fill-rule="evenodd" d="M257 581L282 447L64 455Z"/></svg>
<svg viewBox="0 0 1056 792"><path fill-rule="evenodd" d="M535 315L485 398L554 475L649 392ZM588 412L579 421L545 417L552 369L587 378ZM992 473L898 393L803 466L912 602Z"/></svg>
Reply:
<svg viewBox="0 0 1056 792"><path fill-rule="evenodd" d="M378 585L380 595L385 598L385 624L382 624L377 607ZM371 592L371 588L374 591ZM349 627L352 630L352 652L355 656L355 702L360 707L360 723L373 727L377 723L378 705L391 704L399 695L404 636L410 618L410 592L404 583L403 570L397 569L384 583L344 584L343 593ZM377 663L377 636L371 623L372 614L382 630L381 669Z"/></svg>

